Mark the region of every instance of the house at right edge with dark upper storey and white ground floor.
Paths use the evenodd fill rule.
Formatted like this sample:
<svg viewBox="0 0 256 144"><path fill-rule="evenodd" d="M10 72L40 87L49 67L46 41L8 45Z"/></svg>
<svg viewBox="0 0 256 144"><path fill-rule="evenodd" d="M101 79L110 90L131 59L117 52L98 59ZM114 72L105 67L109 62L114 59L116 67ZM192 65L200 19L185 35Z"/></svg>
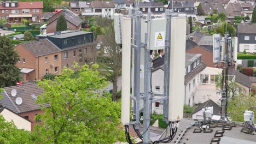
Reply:
<svg viewBox="0 0 256 144"><path fill-rule="evenodd" d="M238 23L236 37L238 52L256 52L256 23Z"/></svg>

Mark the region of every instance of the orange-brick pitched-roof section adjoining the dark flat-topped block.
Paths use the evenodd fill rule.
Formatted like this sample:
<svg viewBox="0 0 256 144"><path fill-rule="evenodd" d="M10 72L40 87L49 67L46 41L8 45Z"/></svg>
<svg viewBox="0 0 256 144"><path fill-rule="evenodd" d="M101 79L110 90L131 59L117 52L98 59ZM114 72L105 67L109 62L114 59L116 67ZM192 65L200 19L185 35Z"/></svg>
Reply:
<svg viewBox="0 0 256 144"><path fill-rule="evenodd" d="M61 50L48 39L18 44L14 48L20 55L17 67L21 69L22 82L42 80L45 74L61 72Z"/></svg>

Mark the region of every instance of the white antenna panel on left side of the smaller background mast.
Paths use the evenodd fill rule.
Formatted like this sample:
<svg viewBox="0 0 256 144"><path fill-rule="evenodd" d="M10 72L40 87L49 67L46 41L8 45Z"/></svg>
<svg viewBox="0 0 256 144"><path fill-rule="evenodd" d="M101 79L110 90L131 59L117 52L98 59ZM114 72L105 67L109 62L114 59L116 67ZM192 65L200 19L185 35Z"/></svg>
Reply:
<svg viewBox="0 0 256 144"><path fill-rule="evenodd" d="M213 62L218 63L220 61L220 40L222 40L222 35L213 34Z"/></svg>

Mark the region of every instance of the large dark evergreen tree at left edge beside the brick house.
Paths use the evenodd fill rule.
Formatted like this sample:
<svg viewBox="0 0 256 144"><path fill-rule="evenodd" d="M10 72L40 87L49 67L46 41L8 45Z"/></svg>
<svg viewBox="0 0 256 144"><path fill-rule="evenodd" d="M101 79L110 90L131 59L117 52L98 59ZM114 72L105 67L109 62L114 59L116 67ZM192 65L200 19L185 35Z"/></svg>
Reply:
<svg viewBox="0 0 256 144"><path fill-rule="evenodd" d="M0 37L0 87L16 85L20 81L20 70L16 67L18 53L7 37Z"/></svg>

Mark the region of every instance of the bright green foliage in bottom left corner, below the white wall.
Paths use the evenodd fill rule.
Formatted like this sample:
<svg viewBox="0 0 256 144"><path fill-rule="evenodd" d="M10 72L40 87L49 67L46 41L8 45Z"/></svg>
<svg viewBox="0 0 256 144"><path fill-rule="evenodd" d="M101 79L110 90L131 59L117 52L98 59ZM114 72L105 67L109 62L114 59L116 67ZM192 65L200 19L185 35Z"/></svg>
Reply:
<svg viewBox="0 0 256 144"><path fill-rule="evenodd" d="M33 143L29 131L16 127L13 121L7 122L0 115L0 143Z"/></svg>

